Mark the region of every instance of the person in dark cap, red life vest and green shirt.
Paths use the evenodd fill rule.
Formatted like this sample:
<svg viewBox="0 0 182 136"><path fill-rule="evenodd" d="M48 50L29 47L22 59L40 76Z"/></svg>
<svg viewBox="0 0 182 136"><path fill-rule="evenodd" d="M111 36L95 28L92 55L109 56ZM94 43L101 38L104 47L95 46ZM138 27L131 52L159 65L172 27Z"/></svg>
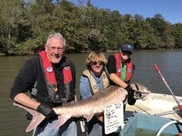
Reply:
<svg viewBox="0 0 182 136"><path fill-rule="evenodd" d="M131 61L134 47L130 44L120 46L118 52L108 57L107 71L110 85L123 87L128 92L128 104L134 105L134 90L130 87L135 65Z"/></svg>

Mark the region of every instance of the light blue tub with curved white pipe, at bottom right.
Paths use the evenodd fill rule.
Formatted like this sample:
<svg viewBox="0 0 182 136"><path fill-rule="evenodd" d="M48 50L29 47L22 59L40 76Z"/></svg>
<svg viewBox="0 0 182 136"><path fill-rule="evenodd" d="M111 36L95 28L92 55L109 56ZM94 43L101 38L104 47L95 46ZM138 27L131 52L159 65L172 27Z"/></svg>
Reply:
<svg viewBox="0 0 182 136"><path fill-rule="evenodd" d="M182 136L182 120L135 113L120 131L120 136Z"/></svg>

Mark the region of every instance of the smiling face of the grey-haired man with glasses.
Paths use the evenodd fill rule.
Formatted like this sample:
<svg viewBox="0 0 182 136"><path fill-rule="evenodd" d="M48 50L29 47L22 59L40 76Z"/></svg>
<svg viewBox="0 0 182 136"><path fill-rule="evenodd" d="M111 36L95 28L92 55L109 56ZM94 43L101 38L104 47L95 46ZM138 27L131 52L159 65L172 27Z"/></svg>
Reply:
<svg viewBox="0 0 182 136"><path fill-rule="evenodd" d="M54 64L61 61L64 56L64 50L64 41L56 37L49 39L48 44L45 46L47 57Z"/></svg>

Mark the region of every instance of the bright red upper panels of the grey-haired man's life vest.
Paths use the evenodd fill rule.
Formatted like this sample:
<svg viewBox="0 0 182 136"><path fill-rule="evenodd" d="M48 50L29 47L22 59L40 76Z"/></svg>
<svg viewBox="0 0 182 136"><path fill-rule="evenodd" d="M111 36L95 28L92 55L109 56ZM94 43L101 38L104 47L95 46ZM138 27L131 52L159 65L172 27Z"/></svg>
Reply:
<svg viewBox="0 0 182 136"><path fill-rule="evenodd" d="M43 69L45 73L45 77L47 82L51 85L57 86L56 77L53 71L53 67L49 59L47 58L47 54L45 51L39 52L39 55L42 59ZM63 68L63 76L64 76L64 83L69 83L72 80L71 68L70 66Z"/></svg>

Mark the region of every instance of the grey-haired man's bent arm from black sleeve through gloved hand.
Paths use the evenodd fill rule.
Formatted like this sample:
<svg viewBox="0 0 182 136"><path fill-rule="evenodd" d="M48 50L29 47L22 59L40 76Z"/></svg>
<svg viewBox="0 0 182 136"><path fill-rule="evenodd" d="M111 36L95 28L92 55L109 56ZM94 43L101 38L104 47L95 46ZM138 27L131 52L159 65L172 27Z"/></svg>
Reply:
<svg viewBox="0 0 182 136"><path fill-rule="evenodd" d="M27 61L19 74L15 78L13 87L11 88L10 97L13 101L18 102L26 107L37 110L46 118L57 116L52 108L45 104L41 104L31 99L26 92L31 90L36 80L35 60Z"/></svg>

